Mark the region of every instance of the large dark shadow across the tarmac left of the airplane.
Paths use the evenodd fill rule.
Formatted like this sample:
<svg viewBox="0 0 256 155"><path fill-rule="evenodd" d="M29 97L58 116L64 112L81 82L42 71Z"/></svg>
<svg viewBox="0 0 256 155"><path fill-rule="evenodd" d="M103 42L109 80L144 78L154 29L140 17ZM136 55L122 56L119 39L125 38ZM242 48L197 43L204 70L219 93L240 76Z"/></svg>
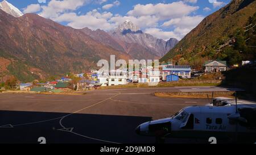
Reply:
<svg viewBox="0 0 256 155"><path fill-rule="evenodd" d="M0 111L0 143L39 143L39 137L45 137L46 143L53 144L94 144L105 143L104 141L115 143L155 143L154 138L138 136L134 131L139 124L151 120L150 117L72 114L61 122L65 128L73 128L72 133L59 130L63 129L60 125L60 119L66 115L69 114ZM44 122L44 120L49 121ZM77 133L77 135L74 133Z"/></svg>

